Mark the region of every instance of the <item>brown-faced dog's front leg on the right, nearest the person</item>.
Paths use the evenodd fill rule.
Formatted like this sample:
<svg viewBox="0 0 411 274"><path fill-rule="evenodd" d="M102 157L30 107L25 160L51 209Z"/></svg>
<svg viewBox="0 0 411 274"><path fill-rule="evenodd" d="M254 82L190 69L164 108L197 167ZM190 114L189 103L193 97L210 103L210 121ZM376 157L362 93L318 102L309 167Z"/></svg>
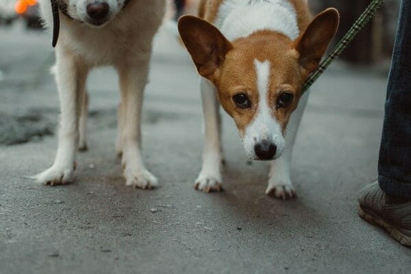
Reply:
<svg viewBox="0 0 411 274"><path fill-rule="evenodd" d="M280 158L271 163L269 186L266 189L266 195L284 200L295 197L295 189L292 186L290 177L291 154L307 101L308 92L301 97L297 110L290 117L286 128L286 149Z"/></svg>

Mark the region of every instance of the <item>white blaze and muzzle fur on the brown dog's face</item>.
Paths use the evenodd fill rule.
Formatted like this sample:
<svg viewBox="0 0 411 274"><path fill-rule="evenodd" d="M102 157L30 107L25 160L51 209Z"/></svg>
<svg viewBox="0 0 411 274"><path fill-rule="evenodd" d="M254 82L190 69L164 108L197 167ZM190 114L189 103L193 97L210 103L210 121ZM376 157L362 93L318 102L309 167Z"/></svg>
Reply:
<svg viewBox="0 0 411 274"><path fill-rule="evenodd" d="M266 140L277 146L276 156L281 155L285 147L284 137L281 126L271 114L272 110L269 105L271 64L269 60L264 62L254 60L254 66L257 76L258 105L253 121L245 129L243 137L245 151L249 158L256 158L254 146L256 143Z"/></svg>

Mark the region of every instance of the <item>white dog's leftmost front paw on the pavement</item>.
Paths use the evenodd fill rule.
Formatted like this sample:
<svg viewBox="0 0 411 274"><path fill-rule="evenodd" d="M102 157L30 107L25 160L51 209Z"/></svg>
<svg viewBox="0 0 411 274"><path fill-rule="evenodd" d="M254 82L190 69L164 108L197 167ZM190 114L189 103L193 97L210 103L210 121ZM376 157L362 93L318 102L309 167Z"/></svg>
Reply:
<svg viewBox="0 0 411 274"><path fill-rule="evenodd" d="M57 186L73 182L75 164L69 166L51 166L51 168L34 175L36 182L41 184Z"/></svg>

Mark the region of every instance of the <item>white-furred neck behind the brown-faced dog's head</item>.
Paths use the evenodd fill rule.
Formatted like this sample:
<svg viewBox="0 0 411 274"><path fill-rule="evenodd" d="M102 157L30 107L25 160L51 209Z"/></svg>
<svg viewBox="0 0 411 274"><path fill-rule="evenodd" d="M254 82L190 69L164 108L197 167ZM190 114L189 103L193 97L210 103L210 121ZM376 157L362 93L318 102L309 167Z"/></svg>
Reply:
<svg viewBox="0 0 411 274"><path fill-rule="evenodd" d="M247 37L259 30L299 36L297 13L288 0L225 0L217 14L216 26L228 40Z"/></svg>

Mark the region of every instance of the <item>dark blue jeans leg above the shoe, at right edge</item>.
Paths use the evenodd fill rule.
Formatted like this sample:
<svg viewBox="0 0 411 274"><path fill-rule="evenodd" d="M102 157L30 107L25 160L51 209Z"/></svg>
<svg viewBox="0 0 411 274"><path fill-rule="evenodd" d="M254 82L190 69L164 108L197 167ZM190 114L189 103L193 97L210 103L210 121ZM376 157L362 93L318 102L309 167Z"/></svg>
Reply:
<svg viewBox="0 0 411 274"><path fill-rule="evenodd" d="M401 0L378 162L379 187L411 199L411 1Z"/></svg>

